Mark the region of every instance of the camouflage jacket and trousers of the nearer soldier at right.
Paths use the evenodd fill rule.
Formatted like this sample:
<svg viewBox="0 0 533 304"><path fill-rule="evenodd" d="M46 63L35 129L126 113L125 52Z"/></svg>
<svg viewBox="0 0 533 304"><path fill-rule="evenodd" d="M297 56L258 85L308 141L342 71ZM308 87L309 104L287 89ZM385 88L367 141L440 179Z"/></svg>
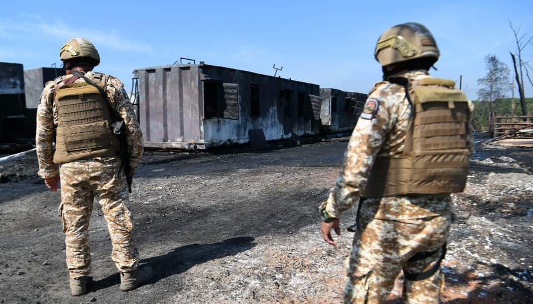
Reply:
<svg viewBox="0 0 533 304"><path fill-rule="evenodd" d="M413 81L430 76L425 70L415 70L402 77ZM403 152L411 113L405 88L386 81L377 83L370 100L378 101L376 112L371 119L361 117L357 122L341 174L320 207L333 218L340 218L340 212L359 201L377 157L399 157ZM471 128L469 132L471 142ZM402 269L420 274L440 262L452 213L449 194L361 199L344 303L382 303ZM417 252L432 251L430 256L409 261ZM439 270L425 280L406 280L403 299L408 303L438 303L442 284Z"/></svg>

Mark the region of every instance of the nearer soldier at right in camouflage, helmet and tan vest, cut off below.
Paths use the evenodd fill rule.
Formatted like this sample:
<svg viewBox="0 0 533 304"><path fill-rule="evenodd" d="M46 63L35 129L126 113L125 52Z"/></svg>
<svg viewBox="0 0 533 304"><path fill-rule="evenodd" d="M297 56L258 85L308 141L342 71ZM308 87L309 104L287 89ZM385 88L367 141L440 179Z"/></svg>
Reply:
<svg viewBox="0 0 533 304"><path fill-rule="evenodd" d="M440 262L472 153L473 106L454 82L428 70L439 51L422 24L379 37L375 84L353 131L345 162L321 204L324 240L336 242L340 213L358 203L344 303L383 303L403 270L403 301L439 303Z"/></svg>

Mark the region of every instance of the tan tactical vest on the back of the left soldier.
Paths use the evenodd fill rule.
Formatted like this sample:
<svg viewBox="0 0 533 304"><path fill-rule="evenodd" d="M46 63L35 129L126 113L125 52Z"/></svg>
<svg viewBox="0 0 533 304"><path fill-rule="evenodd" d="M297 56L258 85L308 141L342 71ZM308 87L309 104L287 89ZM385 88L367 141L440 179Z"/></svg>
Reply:
<svg viewBox="0 0 533 304"><path fill-rule="evenodd" d="M94 73L91 79L101 87L106 77ZM56 79L54 103L58 114L55 163L117 155L119 137L111 127L109 105L98 89L88 83L61 85Z"/></svg>

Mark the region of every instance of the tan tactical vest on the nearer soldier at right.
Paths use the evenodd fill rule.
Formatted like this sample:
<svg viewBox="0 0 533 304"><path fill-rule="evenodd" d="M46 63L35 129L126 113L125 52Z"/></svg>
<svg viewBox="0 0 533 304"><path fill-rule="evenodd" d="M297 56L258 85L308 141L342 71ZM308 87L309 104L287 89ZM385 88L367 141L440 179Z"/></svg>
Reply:
<svg viewBox="0 0 533 304"><path fill-rule="evenodd" d="M424 78L411 83L413 113L399 158L379 157L362 196L462 192L469 171L470 109L455 82Z"/></svg>

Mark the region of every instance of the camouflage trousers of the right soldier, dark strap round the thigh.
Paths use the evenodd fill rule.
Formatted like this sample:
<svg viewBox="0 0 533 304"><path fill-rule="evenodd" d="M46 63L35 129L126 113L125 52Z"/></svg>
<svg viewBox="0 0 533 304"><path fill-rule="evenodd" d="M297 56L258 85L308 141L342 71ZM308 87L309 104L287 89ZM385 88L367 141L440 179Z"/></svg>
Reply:
<svg viewBox="0 0 533 304"><path fill-rule="evenodd" d="M416 275L437 267L450 224L451 214L424 219L386 220L359 212L358 231L347 260L344 303L384 303L402 270L404 274ZM415 260L415 254L421 252L430 254ZM409 281L406 278L403 302L438 304L443 284L444 274L440 272L440 267L424 280Z"/></svg>

